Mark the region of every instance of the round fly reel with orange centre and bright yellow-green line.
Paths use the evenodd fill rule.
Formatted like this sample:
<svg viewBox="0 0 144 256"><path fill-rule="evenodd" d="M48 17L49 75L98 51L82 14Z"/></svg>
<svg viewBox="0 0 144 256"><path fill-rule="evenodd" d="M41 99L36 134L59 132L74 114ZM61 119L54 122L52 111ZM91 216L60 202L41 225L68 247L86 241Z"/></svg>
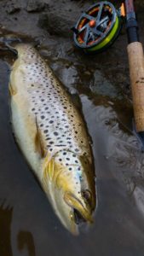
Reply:
<svg viewBox="0 0 144 256"><path fill-rule="evenodd" d="M92 5L80 16L74 32L74 42L84 51L100 52L118 37L122 26L121 15L112 3L103 1Z"/></svg>

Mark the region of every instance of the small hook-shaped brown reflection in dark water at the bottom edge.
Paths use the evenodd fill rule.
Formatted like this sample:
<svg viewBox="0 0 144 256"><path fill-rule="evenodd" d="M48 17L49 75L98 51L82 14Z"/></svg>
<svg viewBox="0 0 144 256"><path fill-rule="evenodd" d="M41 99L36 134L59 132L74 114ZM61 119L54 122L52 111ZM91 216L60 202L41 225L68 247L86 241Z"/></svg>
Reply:
<svg viewBox="0 0 144 256"><path fill-rule="evenodd" d="M20 231L17 237L18 240L18 248L21 251L27 250L28 256L35 256L35 246L33 241L33 236L31 232L28 231Z"/></svg>

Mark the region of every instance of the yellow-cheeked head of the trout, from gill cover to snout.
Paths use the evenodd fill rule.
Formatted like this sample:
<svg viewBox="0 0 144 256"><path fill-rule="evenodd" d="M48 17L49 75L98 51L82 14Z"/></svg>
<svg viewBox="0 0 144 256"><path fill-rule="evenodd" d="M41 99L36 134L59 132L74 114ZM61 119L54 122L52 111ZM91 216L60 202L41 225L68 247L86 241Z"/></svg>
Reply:
<svg viewBox="0 0 144 256"><path fill-rule="evenodd" d="M86 157L61 150L49 161L43 184L55 213L72 234L79 224L93 223L95 176Z"/></svg>

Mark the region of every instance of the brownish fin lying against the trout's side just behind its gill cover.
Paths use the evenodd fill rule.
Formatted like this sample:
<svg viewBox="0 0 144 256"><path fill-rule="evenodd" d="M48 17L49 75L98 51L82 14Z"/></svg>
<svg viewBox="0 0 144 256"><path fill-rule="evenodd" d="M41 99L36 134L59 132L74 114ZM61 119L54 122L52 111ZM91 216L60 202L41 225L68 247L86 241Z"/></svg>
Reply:
<svg viewBox="0 0 144 256"><path fill-rule="evenodd" d="M42 133L39 130L38 125L37 125L37 117L36 117L36 127L37 127L37 133L36 133L36 137L35 137L36 151L41 155L42 158L44 158L46 156L46 148L43 143Z"/></svg>

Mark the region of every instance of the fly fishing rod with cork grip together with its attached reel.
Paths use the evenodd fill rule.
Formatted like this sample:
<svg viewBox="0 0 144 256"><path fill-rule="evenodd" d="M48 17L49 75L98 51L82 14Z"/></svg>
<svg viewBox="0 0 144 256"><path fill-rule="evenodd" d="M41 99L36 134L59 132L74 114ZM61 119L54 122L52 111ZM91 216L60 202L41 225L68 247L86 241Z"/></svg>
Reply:
<svg viewBox="0 0 144 256"><path fill-rule="evenodd" d="M107 49L118 38L123 20L128 35L128 59L130 85L134 108L134 131L144 149L144 56L138 35L134 0L123 1L119 9L112 3L95 3L84 12L76 26L72 27L76 46L86 53L98 53Z"/></svg>

